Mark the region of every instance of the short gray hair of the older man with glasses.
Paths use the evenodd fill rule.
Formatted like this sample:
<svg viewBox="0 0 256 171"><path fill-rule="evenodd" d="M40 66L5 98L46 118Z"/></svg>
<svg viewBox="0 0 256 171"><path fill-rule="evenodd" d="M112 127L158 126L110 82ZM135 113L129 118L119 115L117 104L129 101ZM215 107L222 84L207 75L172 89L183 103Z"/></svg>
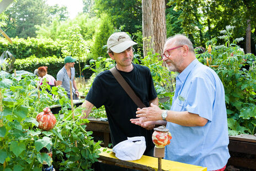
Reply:
<svg viewBox="0 0 256 171"><path fill-rule="evenodd" d="M192 42L189 40L189 38L187 38L186 36L184 36L182 34L177 34L172 37L169 37L166 40L166 44L169 44L169 42L172 42L176 46L187 45L189 47L189 51L194 52L194 47L193 47Z"/></svg>

